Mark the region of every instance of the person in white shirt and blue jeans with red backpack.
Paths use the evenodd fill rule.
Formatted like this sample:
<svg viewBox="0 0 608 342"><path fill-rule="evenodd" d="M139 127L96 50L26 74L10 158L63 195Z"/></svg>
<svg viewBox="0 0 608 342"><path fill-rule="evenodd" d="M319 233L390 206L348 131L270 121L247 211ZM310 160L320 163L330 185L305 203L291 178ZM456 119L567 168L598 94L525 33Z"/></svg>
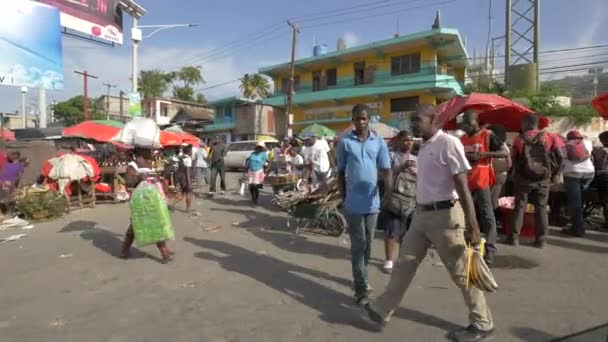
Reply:
<svg viewBox="0 0 608 342"><path fill-rule="evenodd" d="M591 161L591 141L583 139L583 135L572 130L566 135L566 159L564 160L564 187L568 196L570 221L572 227L564 228L563 233L571 236L585 235L585 219L583 217L583 198L585 190L593 181L594 167Z"/></svg>

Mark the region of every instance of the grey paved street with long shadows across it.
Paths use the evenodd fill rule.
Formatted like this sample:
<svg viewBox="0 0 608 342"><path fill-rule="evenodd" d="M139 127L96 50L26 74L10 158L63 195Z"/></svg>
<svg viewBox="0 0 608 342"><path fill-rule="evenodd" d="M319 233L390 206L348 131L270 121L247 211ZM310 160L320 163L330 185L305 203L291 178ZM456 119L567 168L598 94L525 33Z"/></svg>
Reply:
<svg viewBox="0 0 608 342"><path fill-rule="evenodd" d="M79 210L0 243L0 340L442 341L466 323L459 291L427 260L391 324L374 330L353 307L346 238L285 232L265 196L260 207L228 194L197 200L200 216L176 212L170 265L157 262L154 247L116 258L124 204ZM380 238L376 289L387 281ZM497 341L548 341L608 321L608 234L555 234L543 251L500 248L501 288L489 297Z"/></svg>

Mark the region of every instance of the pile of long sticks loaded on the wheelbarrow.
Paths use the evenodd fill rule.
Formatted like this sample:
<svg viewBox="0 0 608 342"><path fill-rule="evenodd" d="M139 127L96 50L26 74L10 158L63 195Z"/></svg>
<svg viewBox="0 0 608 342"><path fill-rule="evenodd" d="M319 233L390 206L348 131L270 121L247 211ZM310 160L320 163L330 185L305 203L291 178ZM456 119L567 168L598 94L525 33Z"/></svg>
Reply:
<svg viewBox="0 0 608 342"><path fill-rule="evenodd" d="M316 189L308 191L289 191L275 196L272 204L284 210L289 210L301 204L324 205L340 200L338 182L335 178L329 178Z"/></svg>

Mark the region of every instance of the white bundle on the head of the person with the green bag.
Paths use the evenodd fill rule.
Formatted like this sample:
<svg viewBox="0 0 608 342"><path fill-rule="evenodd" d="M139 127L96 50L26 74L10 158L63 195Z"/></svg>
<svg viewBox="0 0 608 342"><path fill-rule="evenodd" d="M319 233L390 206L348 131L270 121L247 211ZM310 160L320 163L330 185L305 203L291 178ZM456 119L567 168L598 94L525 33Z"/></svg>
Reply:
<svg viewBox="0 0 608 342"><path fill-rule="evenodd" d="M112 140L136 147L161 148L160 129L149 118L135 118L127 122Z"/></svg>

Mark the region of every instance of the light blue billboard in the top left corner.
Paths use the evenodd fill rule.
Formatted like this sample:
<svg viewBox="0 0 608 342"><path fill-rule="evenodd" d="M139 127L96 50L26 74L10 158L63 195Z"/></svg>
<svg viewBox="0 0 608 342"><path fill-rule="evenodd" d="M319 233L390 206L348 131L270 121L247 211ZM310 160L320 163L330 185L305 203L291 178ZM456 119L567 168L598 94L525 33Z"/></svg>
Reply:
<svg viewBox="0 0 608 342"><path fill-rule="evenodd" d="M29 0L0 3L0 84L63 89L59 10Z"/></svg>

